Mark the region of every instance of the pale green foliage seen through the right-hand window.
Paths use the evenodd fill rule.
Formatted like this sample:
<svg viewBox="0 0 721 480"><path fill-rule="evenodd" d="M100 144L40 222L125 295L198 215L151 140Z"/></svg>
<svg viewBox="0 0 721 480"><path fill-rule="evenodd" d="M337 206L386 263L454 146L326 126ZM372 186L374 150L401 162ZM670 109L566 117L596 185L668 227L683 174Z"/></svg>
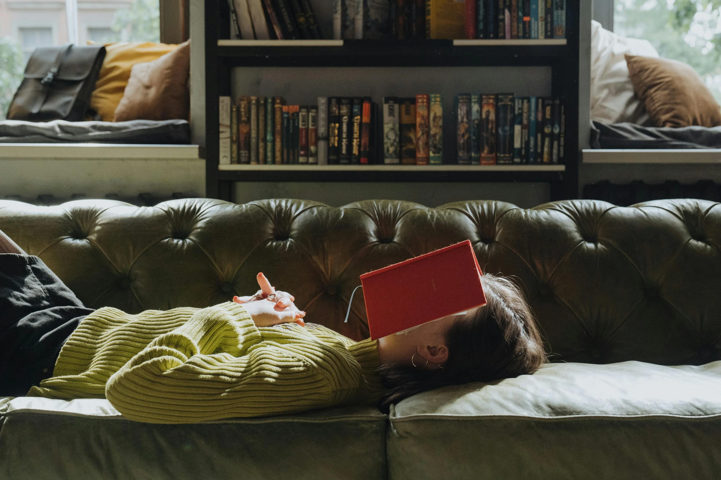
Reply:
<svg viewBox="0 0 721 480"><path fill-rule="evenodd" d="M721 0L616 0L614 31L688 63L721 102Z"/></svg>

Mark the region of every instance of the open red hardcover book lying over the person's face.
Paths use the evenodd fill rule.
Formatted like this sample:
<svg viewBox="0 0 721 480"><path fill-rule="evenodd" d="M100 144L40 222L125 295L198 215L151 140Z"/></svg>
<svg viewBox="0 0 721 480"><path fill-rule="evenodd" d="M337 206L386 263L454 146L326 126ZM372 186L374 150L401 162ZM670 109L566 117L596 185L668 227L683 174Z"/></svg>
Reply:
<svg viewBox="0 0 721 480"><path fill-rule="evenodd" d="M481 274L469 240L363 273L371 338L485 305Z"/></svg>

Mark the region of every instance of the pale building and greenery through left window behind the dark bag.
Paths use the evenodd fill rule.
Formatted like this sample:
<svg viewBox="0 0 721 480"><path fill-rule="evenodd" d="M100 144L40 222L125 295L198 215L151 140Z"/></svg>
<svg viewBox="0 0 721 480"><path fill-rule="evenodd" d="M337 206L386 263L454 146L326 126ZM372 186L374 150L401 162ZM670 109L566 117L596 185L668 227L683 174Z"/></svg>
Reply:
<svg viewBox="0 0 721 480"><path fill-rule="evenodd" d="M0 0L0 119L36 47L160 40L159 0Z"/></svg>

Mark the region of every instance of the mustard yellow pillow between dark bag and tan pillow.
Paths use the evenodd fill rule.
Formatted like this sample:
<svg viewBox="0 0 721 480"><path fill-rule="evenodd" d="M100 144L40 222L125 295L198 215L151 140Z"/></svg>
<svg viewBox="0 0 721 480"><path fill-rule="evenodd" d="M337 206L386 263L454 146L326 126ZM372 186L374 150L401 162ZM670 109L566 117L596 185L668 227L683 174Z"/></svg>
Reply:
<svg viewBox="0 0 721 480"><path fill-rule="evenodd" d="M154 42L117 42L105 45L105 61L90 98L90 108L95 109L104 122L112 122L115 109L123 99L125 86L131 78L131 68L136 63L152 62L171 52L177 45Z"/></svg>

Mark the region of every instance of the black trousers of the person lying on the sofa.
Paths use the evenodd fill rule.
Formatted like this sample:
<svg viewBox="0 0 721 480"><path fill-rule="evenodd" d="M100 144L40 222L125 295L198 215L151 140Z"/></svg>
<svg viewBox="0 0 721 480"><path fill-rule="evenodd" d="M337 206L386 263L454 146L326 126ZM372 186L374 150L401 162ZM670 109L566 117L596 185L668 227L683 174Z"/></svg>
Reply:
<svg viewBox="0 0 721 480"><path fill-rule="evenodd" d="M60 349L94 312L35 256L0 254L0 397L53 374Z"/></svg>

